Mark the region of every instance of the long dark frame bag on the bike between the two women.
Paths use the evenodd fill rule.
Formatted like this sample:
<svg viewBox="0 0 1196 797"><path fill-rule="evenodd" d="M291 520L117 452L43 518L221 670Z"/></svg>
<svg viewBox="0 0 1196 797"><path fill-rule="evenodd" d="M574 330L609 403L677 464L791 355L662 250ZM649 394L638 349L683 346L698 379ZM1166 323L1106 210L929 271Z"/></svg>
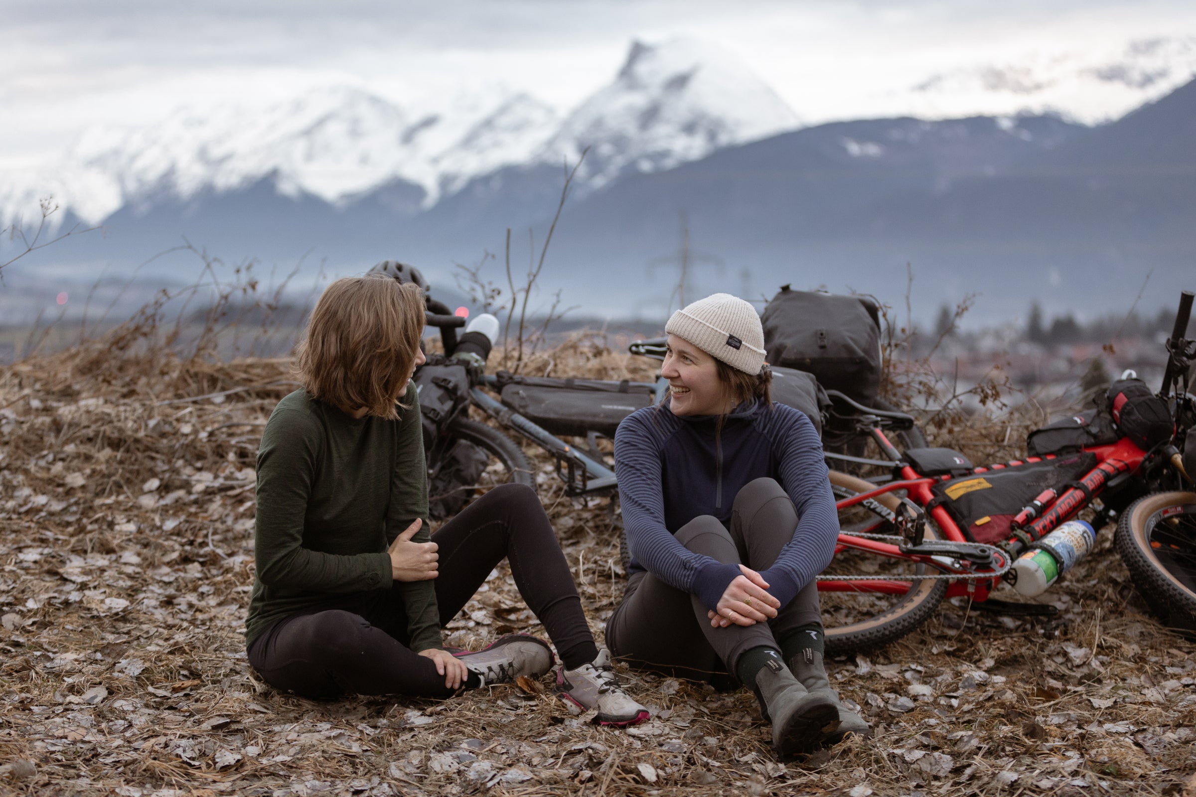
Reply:
<svg viewBox="0 0 1196 797"><path fill-rule="evenodd" d="M504 381L499 376L500 384ZM581 379L509 376L502 404L549 434L584 437L591 431L615 436L620 422L652 405L652 387Z"/></svg>

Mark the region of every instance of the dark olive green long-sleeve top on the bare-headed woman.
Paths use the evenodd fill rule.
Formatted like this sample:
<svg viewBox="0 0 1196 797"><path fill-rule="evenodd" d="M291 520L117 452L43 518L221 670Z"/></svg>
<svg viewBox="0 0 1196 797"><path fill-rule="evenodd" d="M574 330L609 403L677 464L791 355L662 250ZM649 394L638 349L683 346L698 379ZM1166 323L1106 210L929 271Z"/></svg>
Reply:
<svg viewBox="0 0 1196 797"><path fill-rule="evenodd" d="M391 581L386 548L415 519L431 539L427 466L415 386L399 417L354 418L306 391L274 407L257 452L257 577L246 643L332 594L401 590L413 650L439 648L432 581Z"/></svg>

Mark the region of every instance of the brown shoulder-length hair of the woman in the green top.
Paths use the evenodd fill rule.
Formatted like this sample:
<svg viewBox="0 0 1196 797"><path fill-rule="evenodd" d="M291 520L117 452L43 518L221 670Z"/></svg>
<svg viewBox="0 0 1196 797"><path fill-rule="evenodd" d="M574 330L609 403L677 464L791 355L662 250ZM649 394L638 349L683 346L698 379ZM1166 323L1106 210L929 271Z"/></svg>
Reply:
<svg viewBox="0 0 1196 797"><path fill-rule="evenodd" d="M423 294L391 277L344 277L324 289L295 357L299 381L325 404L395 419L423 332Z"/></svg>

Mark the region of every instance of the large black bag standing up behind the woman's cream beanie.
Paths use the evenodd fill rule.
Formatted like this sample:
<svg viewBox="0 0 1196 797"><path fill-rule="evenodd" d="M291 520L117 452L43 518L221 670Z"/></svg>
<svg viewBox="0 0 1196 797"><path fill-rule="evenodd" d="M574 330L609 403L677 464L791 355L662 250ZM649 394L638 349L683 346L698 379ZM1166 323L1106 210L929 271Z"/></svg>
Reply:
<svg viewBox="0 0 1196 797"><path fill-rule="evenodd" d="M783 286L761 315L768 361L811 373L824 388L872 406L880 392L879 313L868 296Z"/></svg>

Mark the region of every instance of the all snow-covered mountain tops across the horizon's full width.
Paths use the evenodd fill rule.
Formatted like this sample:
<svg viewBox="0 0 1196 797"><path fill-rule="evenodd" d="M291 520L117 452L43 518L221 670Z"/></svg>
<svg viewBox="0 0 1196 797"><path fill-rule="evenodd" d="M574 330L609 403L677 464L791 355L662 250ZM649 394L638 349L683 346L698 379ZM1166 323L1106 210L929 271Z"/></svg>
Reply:
<svg viewBox="0 0 1196 797"><path fill-rule="evenodd" d="M1005 63L939 72L896 92L878 90L868 108L874 116L1051 112L1094 123L1158 99L1194 72L1192 37L1104 51L1026 51ZM828 117L817 103L800 110L801 119L859 116ZM587 147L579 198L628 173L671 168L799 127L798 115L722 49L692 39L635 42L612 81L563 117L512 90L397 104L325 86L266 108L178 110L139 129L91 129L56 163L0 174L0 227L36 219L48 195L98 223L122 210L145 213L164 201L188 207L263 182L285 197L337 208L373 197L399 215L437 206L456 213L446 198L489 192L496 213L509 215L505 192L520 185L538 208L548 178L536 174L575 163ZM550 182L549 194L559 186L557 171ZM513 221L520 217L505 223Z"/></svg>

